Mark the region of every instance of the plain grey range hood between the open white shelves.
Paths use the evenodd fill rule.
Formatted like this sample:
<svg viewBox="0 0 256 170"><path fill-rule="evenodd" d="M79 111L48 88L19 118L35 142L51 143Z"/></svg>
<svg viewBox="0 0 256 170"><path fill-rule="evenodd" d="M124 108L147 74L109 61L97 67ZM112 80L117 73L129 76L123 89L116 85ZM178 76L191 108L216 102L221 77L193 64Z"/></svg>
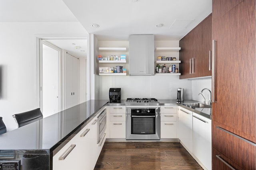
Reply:
<svg viewBox="0 0 256 170"><path fill-rule="evenodd" d="M154 74L154 35L130 35L129 75L151 76Z"/></svg>

